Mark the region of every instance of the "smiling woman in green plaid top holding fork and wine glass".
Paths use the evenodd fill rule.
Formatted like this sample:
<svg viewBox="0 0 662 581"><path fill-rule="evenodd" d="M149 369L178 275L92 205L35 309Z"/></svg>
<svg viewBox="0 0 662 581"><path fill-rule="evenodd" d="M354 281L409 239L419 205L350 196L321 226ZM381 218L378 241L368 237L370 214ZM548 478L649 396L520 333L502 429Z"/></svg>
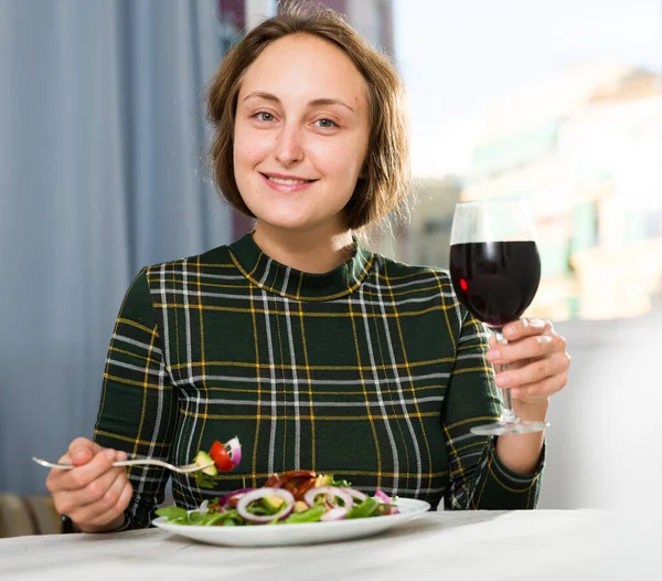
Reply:
<svg viewBox="0 0 662 581"><path fill-rule="evenodd" d="M494 385L543 420L563 388L565 341L546 321L505 327L489 350L448 275L372 253L356 231L408 188L403 91L388 61L325 9L250 31L211 84L214 173L255 231L142 270L121 306L94 442L47 477L79 530L146 527L170 474L111 467L192 462L238 435L244 461L205 490L173 475L178 505L273 472L313 469L356 488L448 508L531 508L543 435L472 435L496 419ZM489 362L511 363L493 377Z"/></svg>

